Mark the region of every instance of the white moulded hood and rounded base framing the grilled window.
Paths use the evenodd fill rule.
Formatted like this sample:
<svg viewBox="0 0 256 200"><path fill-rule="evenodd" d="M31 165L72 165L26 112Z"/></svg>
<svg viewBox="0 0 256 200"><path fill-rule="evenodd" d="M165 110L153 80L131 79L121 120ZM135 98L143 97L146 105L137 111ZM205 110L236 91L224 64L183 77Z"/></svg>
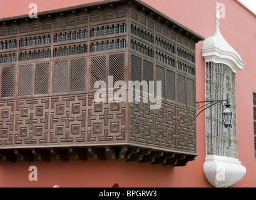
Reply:
<svg viewBox="0 0 256 200"><path fill-rule="evenodd" d="M217 14L216 14L216 31L213 36L208 37L203 42L202 47L202 56L205 59L205 70L207 71L207 64L212 63L214 65L221 64L223 68L229 67L234 74L237 73L237 71L242 70L243 66L245 66L245 63L243 63L242 58L239 56L239 54L228 44L228 42L224 39L222 34L220 33L220 14L218 12L218 2L217 2ZM207 87L207 77L206 77L206 87ZM235 84L235 83L234 83ZM225 90L225 89L224 89ZM223 92L220 90L220 92ZM227 91L224 91L227 92ZM207 88L205 91L206 98L207 97ZM216 100L216 99L213 99ZM218 99L217 99L218 100ZM232 99L233 100L233 108L235 109L235 96ZM218 108L220 109L220 107ZM222 109L223 110L223 109ZM222 110L220 112L222 112ZM206 113L207 118L207 113ZM206 123L207 123L206 119ZM210 119L212 120L212 119ZM211 123L211 122L210 122ZM236 122L235 122L236 123ZM216 126L216 124L211 124L211 126ZM209 129L209 127L206 126L206 129ZM206 130L206 137L207 133L212 133L213 128L210 127L212 130ZM224 126L223 126L223 129ZM236 140L236 128L235 130L232 130L233 134L232 137ZM222 131L222 133L225 133L225 131ZM216 134L217 137L218 134ZM231 135L231 134L230 134ZM207 138L206 138L207 140ZM230 138L230 140L232 140ZM212 148L209 146L210 144L206 144L207 149ZM224 146L223 146L224 145ZM227 148L225 146L225 143L223 143L222 146L218 146L217 148L220 151L223 151L224 153L214 153L212 151L207 151L207 156L205 158L205 163L203 165L203 170L205 173L206 178L208 181L215 187L229 187L233 184L240 181L240 179L243 178L243 176L246 173L245 167L242 166L241 162L237 158L237 149L235 149L235 144L233 144L233 148L235 149L232 154L225 154L225 151L227 151ZM216 146L215 146L216 148Z"/></svg>

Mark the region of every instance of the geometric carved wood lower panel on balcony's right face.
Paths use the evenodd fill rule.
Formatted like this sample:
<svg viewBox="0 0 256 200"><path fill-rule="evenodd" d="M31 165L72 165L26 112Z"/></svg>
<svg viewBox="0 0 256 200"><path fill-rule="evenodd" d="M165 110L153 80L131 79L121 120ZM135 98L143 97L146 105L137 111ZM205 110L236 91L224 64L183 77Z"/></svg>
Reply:
<svg viewBox="0 0 256 200"><path fill-rule="evenodd" d="M196 152L195 111L162 102L159 110L135 103L129 108L129 139L162 149Z"/></svg>

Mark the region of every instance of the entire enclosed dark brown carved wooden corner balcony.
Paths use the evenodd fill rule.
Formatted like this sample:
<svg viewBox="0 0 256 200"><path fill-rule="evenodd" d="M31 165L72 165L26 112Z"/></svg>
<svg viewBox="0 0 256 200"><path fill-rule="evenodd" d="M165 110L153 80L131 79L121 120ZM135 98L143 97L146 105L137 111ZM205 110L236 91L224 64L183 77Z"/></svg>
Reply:
<svg viewBox="0 0 256 200"><path fill-rule="evenodd" d="M137 0L0 19L0 161L185 166L197 156L202 39ZM106 83L106 103L95 102L97 81ZM161 97L160 108L150 109L142 92L140 102L121 101L130 91L118 81L161 81L160 92L157 84L143 87Z"/></svg>

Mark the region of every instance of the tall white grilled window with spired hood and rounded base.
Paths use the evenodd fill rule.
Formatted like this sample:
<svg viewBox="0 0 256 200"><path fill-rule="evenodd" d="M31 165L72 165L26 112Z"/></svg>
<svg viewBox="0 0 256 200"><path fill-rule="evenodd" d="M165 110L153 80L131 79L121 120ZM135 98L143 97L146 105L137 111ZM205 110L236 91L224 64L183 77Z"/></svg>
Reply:
<svg viewBox="0 0 256 200"><path fill-rule="evenodd" d="M245 63L220 33L219 19L217 3L215 34L205 39L202 47L206 72L205 100L229 99L235 112L235 74L243 69ZM232 129L221 126L221 106L206 113L207 156L203 171L214 187L229 187L245 176L246 169L237 158L236 126ZM234 121L235 125L236 119Z"/></svg>

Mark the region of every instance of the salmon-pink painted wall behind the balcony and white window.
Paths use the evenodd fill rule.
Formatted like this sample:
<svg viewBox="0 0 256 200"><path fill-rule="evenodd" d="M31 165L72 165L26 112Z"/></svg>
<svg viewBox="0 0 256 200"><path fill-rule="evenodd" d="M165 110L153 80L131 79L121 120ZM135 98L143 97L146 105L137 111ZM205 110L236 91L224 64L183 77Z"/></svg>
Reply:
<svg viewBox="0 0 256 200"><path fill-rule="evenodd" d="M1 0L0 17L28 14L29 3L38 11L75 6L96 0ZM207 38L215 32L216 0L143 0L184 26ZM247 168L245 177L233 187L256 187L253 141L252 91L256 91L256 17L235 0L222 0L226 18L220 31L247 66L237 73L238 159ZM197 44L197 101L205 99L203 42ZM203 173L205 161L205 114L197 119L195 161L182 168L126 161L68 161L0 163L0 187L211 187ZM29 181L29 166L38 167L38 181Z"/></svg>

